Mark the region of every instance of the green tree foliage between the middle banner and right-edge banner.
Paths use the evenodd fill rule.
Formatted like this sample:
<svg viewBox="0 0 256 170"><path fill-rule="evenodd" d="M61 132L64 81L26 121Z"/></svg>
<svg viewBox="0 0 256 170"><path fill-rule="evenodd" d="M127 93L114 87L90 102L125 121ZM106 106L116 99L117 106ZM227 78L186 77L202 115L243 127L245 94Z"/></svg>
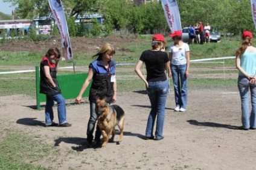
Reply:
<svg viewBox="0 0 256 170"><path fill-rule="evenodd" d="M183 27L208 21L223 33L254 29L249 0L178 0L178 6Z"/></svg>

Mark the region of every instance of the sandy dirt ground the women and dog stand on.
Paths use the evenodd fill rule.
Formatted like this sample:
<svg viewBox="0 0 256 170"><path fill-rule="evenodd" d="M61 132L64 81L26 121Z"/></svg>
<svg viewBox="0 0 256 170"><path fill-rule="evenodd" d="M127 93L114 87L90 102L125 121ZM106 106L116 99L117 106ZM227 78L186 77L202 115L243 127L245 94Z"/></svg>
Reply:
<svg viewBox="0 0 256 170"><path fill-rule="evenodd" d="M186 112L174 112L171 91L165 110L165 138L161 141L143 139L150 111L143 92L118 94L117 104L126 112L120 145L119 133L106 148L83 145L88 103L67 106L72 127L46 128L44 111L34 109L34 99L23 95L0 97L0 128L40 135L47 144L59 148L57 160L46 162L45 158L33 163L52 169L255 169L256 130L238 130L238 91L190 90Z"/></svg>

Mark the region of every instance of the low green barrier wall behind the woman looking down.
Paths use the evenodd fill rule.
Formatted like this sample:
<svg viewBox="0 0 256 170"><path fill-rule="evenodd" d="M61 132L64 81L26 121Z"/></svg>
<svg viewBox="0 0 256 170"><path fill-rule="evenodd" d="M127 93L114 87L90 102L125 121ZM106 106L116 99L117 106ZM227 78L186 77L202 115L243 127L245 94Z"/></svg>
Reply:
<svg viewBox="0 0 256 170"><path fill-rule="evenodd" d="M57 76L57 80L59 82L60 89L62 90L62 96L65 99L75 99L78 96L78 93L81 90L83 83L85 82L88 73L76 73L76 74L68 74L68 75L60 75ZM91 83L88 88L83 93L83 97L89 96L89 90L91 87ZM36 66L36 106L37 109L40 110L40 103L46 102L45 94L40 94L40 73L39 66Z"/></svg>

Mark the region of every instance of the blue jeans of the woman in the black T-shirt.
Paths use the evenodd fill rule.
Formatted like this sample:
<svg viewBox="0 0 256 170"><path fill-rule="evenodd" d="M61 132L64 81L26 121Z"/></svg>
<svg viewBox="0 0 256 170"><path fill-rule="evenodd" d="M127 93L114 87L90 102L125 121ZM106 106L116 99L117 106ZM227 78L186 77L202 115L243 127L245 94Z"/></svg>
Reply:
<svg viewBox="0 0 256 170"><path fill-rule="evenodd" d="M149 88L147 88L149 100L151 103L151 111L149 118L147 119L146 136L153 137L153 129L156 120L156 139L161 139L164 129L164 117L165 117L165 103L168 94L168 82L149 82Z"/></svg>

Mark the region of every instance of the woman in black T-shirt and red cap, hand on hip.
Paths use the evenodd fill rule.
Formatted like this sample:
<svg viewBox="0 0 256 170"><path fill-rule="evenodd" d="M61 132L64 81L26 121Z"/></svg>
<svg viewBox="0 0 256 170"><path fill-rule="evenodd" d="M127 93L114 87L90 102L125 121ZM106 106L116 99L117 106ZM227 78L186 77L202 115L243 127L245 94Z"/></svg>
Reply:
<svg viewBox="0 0 256 170"><path fill-rule="evenodd" d="M165 103L168 94L168 82L165 76L165 70L169 70L169 59L166 52L163 52L165 44L164 36L156 34L152 38L152 49L142 52L138 63L135 67L135 72L145 83L145 87L151 103L151 111L147 120L145 140L155 139L159 141L164 139L164 118L165 118ZM141 66L145 62L147 77L141 73ZM156 119L157 117L157 119ZM156 119L155 136L153 133Z"/></svg>

